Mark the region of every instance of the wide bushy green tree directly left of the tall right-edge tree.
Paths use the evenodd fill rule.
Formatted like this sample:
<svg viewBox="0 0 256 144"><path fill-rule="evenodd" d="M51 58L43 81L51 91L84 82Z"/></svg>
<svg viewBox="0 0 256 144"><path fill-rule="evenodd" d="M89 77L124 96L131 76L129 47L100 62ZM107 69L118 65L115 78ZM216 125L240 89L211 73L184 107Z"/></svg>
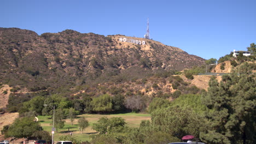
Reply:
<svg viewBox="0 0 256 144"><path fill-rule="evenodd" d="M181 139L184 135L199 137L204 119L191 109L170 106L151 113L153 131L165 131L173 137Z"/></svg>

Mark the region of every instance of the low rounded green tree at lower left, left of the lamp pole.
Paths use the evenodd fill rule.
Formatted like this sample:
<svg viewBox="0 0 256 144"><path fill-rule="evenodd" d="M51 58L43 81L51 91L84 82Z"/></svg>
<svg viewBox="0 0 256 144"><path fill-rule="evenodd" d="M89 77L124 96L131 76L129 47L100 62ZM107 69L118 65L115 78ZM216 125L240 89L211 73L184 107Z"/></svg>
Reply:
<svg viewBox="0 0 256 144"><path fill-rule="evenodd" d="M39 123L34 122L32 117L16 118L14 123L10 125L7 135L28 138L37 130L42 130L42 127Z"/></svg>

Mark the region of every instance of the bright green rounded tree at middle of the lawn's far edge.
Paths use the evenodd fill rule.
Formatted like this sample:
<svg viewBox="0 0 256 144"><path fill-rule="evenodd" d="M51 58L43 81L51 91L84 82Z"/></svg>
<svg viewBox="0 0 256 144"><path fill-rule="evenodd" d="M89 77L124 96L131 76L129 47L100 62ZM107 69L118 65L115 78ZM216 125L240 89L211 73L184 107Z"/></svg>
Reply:
<svg viewBox="0 0 256 144"><path fill-rule="evenodd" d="M92 111L96 112L108 112L112 111L112 98L108 94L103 94L98 98L94 98L91 101Z"/></svg>

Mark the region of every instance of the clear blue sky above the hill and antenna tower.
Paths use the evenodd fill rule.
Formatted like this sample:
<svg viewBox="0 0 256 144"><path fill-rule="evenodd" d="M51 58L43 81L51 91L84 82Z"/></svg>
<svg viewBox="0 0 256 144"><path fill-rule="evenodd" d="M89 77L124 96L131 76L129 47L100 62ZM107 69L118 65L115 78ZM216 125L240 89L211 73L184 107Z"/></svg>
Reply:
<svg viewBox="0 0 256 144"><path fill-rule="evenodd" d="M256 43L255 0L2 0L0 27L150 37L205 59Z"/></svg>

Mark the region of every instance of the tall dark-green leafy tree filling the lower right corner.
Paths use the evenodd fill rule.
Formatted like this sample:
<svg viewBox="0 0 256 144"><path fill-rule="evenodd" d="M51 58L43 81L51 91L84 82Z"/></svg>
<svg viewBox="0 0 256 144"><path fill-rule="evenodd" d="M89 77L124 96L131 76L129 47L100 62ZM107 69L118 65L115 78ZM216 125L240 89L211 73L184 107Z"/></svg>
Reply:
<svg viewBox="0 0 256 144"><path fill-rule="evenodd" d="M208 128L200 134L207 143L256 142L255 77L246 69L238 71L242 71L240 75L224 75L220 83L212 77L208 92L202 94L203 103L210 109L206 115Z"/></svg>

